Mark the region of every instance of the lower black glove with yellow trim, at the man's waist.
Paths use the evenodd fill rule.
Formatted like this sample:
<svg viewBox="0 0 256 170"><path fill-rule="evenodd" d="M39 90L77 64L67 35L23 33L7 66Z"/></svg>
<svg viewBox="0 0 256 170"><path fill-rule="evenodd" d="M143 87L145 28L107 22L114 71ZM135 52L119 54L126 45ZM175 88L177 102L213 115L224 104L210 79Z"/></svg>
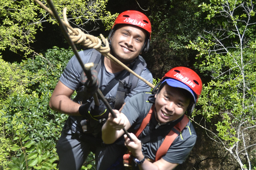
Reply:
<svg viewBox="0 0 256 170"><path fill-rule="evenodd" d="M104 103L99 100L100 106L96 106L94 100L91 103L86 103L79 107L80 115L86 119L100 120L107 119L109 110Z"/></svg>

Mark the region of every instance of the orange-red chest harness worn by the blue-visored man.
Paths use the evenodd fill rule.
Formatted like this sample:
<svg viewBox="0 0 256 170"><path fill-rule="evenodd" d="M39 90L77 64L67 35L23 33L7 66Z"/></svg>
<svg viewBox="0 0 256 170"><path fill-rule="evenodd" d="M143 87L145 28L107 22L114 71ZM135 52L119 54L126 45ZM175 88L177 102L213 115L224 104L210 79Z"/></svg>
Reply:
<svg viewBox="0 0 256 170"><path fill-rule="evenodd" d="M149 121L151 120L152 118L152 113L154 113L155 109L155 104L152 105L150 111L148 112L147 116L143 119L140 127L138 128L138 130L134 133L138 138L141 134L141 132L146 128L146 126L148 125ZM172 142L175 140L175 138L181 134L181 131L186 127L186 125L188 124L189 122L189 119L187 118L186 115L184 115L184 117L181 119L180 122L178 122L170 131L169 133L165 136L164 138L164 141L162 142L162 144L160 145L160 147L158 148L157 152L156 152L156 158L155 160L151 160L151 159L148 159L149 161L151 162L155 162L155 161L158 161L159 159L161 159L161 157L163 155L165 155L168 151L168 149L170 148ZM162 129L161 129L162 130ZM156 133L156 134L159 134L159 133ZM150 135L150 134L148 134ZM148 138L146 135L144 138L141 139L142 143L146 143L148 142ZM145 139L145 140L143 140ZM124 166L127 168L127 169L130 169L132 168L132 165L131 165L131 162L132 162L132 157L131 157L131 152L129 151L128 154L125 154L123 156L123 159L124 159Z"/></svg>

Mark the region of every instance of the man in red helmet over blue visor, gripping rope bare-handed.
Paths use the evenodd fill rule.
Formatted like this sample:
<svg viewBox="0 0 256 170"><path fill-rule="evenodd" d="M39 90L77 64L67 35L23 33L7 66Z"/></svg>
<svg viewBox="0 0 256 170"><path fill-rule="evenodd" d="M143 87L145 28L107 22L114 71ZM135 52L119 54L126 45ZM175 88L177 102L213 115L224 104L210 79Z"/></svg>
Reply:
<svg viewBox="0 0 256 170"><path fill-rule="evenodd" d="M201 94L200 77L189 68L175 67L152 93L158 86L155 95L141 92L132 96L121 113L114 110L117 118L109 114L102 127L105 143L122 136L122 128L132 132L133 141L127 135L124 138L134 160L133 170L172 170L186 160L196 141L195 129L185 113L192 113Z"/></svg>

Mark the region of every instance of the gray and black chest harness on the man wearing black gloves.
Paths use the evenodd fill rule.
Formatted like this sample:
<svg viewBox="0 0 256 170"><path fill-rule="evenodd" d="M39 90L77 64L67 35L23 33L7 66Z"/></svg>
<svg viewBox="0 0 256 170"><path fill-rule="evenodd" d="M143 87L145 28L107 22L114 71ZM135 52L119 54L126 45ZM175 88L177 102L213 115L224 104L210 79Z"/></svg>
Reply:
<svg viewBox="0 0 256 170"><path fill-rule="evenodd" d="M84 50L84 56L88 55L88 50ZM102 64L104 62L104 56L101 55L100 52L98 52L95 49L92 49L91 52L91 58L89 59L89 62L93 62L95 67L95 70L97 73L99 73L100 68L102 67ZM130 64L131 70L133 70L136 74L141 75L142 71L146 69L146 61L141 57L138 56L133 63ZM112 107L116 110L119 110L122 105L124 104L125 97L137 86L139 81L139 78L134 76L133 74L129 73L127 70L121 71L115 78L113 78L108 85L105 87L105 89L102 90L102 94L106 96L109 91L118 83L118 89L116 93L116 97L105 97L107 101L112 105ZM82 85L80 85L82 86ZM88 97L84 96L83 102L86 102ZM101 119L99 121L95 120L82 120L80 122L83 132L87 133L86 136L82 135L79 132L72 133L72 135L75 138L84 140L84 141L91 141L92 143L100 143L102 144L102 141L98 139L93 140L94 138L88 138L90 137L89 134L92 134L93 136L99 136L99 133L101 132L101 127L105 123L105 119ZM88 134L89 133L89 134ZM88 140L89 139L89 140Z"/></svg>

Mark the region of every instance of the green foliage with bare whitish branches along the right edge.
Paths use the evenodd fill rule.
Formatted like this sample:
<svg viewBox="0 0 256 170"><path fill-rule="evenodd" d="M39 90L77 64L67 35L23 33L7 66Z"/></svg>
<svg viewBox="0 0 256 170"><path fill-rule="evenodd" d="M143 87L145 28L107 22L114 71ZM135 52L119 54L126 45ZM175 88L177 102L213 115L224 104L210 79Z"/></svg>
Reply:
<svg viewBox="0 0 256 170"><path fill-rule="evenodd" d="M255 2L235 0L202 3L199 7L207 13L205 19L216 27L188 45L198 51L195 68L210 79L198 101L200 110L193 116L200 114L207 122L215 122L210 129L215 129L223 146L245 169L255 164L251 162L255 161L255 151L251 152L255 140L247 137L256 127L256 18L252 4ZM243 154L248 157L240 159Z"/></svg>

